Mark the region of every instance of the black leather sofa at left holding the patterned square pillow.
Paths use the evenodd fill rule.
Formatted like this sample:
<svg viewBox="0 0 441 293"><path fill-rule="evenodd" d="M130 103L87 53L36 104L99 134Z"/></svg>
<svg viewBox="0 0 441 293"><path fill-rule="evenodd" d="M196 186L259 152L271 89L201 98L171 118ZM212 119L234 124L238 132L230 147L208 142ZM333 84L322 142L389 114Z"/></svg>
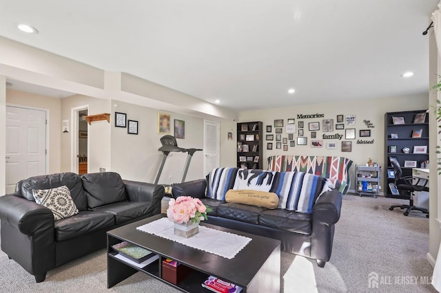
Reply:
<svg viewBox="0 0 441 293"><path fill-rule="evenodd" d="M32 189L68 186L79 213L59 221L34 202ZM112 228L161 213L161 185L122 180L117 173L30 177L0 197L1 250L44 281L46 272L107 243Z"/></svg>

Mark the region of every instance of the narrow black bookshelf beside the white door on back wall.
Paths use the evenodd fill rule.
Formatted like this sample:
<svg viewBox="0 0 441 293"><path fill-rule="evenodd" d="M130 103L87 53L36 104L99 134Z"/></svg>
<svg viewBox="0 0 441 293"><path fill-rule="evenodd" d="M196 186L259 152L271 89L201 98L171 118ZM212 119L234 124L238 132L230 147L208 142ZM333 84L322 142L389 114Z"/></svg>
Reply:
<svg viewBox="0 0 441 293"><path fill-rule="evenodd" d="M244 169L263 169L262 122L237 124L237 166Z"/></svg>

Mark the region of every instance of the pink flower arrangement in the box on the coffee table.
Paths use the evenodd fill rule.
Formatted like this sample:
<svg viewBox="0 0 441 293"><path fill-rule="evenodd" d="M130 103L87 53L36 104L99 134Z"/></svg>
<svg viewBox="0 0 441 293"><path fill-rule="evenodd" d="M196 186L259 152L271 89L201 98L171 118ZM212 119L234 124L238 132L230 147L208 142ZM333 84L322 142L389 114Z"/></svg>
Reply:
<svg viewBox="0 0 441 293"><path fill-rule="evenodd" d="M178 224L192 221L192 224L199 223L207 218L207 213L212 209L205 206L201 199L189 196L180 196L177 199L170 199L167 208L167 217L170 221Z"/></svg>

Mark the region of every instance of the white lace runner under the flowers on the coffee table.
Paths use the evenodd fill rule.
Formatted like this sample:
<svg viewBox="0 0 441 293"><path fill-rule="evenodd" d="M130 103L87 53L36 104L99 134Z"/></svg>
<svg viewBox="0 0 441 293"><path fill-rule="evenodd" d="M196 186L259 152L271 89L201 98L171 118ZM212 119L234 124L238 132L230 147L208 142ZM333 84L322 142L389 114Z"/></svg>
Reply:
<svg viewBox="0 0 441 293"><path fill-rule="evenodd" d="M205 226L199 226L199 232L192 237L179 237L174 235L174 223L166 217L136 227L136 229L176 241L198 250L216 254L226 259L232 259L240 250L247 246L249 241L252 241L249 237L215 230Z"/></svg>

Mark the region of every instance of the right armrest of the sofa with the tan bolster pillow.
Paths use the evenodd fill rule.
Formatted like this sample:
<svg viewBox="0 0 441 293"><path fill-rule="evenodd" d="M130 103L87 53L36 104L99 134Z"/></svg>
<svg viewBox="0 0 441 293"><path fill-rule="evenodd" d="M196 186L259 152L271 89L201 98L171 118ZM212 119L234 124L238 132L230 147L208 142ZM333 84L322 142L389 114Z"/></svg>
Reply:
<svg viewBox="0 0 441 293"><path fill-rule="evenodd" d="M336 224L340 219L340 211L342 208L342 194L336 190L326 191L322 193L316 200L316 204L312 209L313 223L318 222L328 226Z"/></svg>

